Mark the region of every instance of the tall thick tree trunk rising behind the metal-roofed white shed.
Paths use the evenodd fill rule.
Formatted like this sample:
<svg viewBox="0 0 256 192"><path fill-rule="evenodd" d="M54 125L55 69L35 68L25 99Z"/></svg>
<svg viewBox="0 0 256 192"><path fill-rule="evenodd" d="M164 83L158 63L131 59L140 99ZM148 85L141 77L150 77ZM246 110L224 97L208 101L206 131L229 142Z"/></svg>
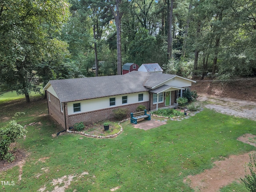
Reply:
<svg viewBox="0 0 256 192"><path fill-rule="evenodd" d="M173 11L173 2L174 0L167 1L167 12L168 12L168 40L167 40L167 54L168 54L168 59L172 58L172 11Z"/></svg>

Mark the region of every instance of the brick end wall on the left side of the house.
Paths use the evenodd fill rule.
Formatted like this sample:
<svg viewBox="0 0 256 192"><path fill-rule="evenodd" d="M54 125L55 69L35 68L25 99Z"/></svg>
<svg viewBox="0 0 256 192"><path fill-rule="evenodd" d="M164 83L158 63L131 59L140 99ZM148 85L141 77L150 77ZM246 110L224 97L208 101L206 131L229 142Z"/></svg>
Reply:
<svg viewBox="0 0 256 192"><path fill-rule="evenodd" d="M65 128L64 107L63 107L63 112L61 112L60 100L56 98L54 95L50 94L50 101L49 101L49 96L47 92L47 101L48 101L49 115L52 116L52 118L54 118L63 128Z"/></svg>

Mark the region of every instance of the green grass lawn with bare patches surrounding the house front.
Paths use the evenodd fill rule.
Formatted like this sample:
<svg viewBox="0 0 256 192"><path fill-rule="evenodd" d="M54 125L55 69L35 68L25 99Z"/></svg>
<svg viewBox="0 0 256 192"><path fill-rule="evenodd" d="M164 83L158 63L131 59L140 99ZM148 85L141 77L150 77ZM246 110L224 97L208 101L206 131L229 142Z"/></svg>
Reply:
<svg viewBox="0 0 256 192"><path fill-rule="evenodd" d="M1 99L1 98L0 98ZM213 162L230 154L255 150L236 138L256 134L255 122L203 110L181 122L168 123L151 130L135 129L129 121L122 123L124 132L112 139L95 139L76 134L52 137L63 130L49 116L47 103L38 97L32 102L15 101L0 104L0 126L17 111L26 112L20 124L27 125L26 139L18 144L29 155L22 167L1 172L0 181L14 181L4 191L54 190L54 180L72 178L66 192L168 191L192 192L183 179L210 169ZM24 109L24 110L23 110ZM31 122L40 122L28 126ZM85 173L86 172L86 173ZM57 184L64 187L64 183ZM3 186L0 186L3 188ZM244 184L232 183L221 191L246 191Z"/></svg>

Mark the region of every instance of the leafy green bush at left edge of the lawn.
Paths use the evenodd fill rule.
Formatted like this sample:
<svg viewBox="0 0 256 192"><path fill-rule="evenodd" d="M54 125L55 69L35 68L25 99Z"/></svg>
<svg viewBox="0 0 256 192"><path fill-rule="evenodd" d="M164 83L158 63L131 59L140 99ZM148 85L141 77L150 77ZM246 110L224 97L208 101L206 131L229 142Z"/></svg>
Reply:
<svg viewBox="0 0 256 192"><path fill-rule="evenodd" d="M16 121L10 121L8 128L0 129L0 160L8 160L11 162L14 160L14 156L8 151L9 146L17 138L20 138L26 134L26 130Z"/></svg>

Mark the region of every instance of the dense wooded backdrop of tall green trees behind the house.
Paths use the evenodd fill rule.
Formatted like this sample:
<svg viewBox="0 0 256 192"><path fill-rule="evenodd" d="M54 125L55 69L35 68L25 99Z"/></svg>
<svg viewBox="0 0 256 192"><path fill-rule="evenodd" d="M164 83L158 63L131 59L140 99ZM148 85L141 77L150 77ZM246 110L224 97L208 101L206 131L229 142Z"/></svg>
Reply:
<svg viewBox="0 0 256 192"><path fill-rule="evenodd" d="M0 89L29 102L49 80L121 74L126 62L254 76L255 10L252 0L1 0Z"/></svg>

